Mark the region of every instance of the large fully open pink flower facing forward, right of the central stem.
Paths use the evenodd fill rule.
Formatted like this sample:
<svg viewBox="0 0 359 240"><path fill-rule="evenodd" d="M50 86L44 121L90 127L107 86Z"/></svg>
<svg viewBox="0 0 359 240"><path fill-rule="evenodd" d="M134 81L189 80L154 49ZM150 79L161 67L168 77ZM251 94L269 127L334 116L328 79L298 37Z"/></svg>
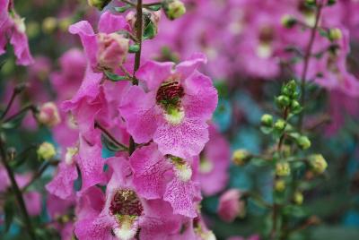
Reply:
<svg viewBox="0 0 359 240"><path fill-rule="evenodd" d="M153 139L162 154L184 159L203 150L208 141L206 121L217 105L212 81L196 71L205 62L205 56L197 54L175 68L170 62L149 61L138 70L136 77L147 92L131 87L119 107L137 143Z"/></svg>

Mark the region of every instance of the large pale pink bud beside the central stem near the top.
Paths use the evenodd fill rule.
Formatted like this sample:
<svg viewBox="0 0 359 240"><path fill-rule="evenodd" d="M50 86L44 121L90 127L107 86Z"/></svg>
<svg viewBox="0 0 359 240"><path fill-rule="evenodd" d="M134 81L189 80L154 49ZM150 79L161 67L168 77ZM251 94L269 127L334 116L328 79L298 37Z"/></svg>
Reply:
<svg viewBox="0 0 359 240"><path fill-rule="evenodd" d="M97 61L101 68L115 69L126 60L129 40L115 32L98 34Z"/></svg>

